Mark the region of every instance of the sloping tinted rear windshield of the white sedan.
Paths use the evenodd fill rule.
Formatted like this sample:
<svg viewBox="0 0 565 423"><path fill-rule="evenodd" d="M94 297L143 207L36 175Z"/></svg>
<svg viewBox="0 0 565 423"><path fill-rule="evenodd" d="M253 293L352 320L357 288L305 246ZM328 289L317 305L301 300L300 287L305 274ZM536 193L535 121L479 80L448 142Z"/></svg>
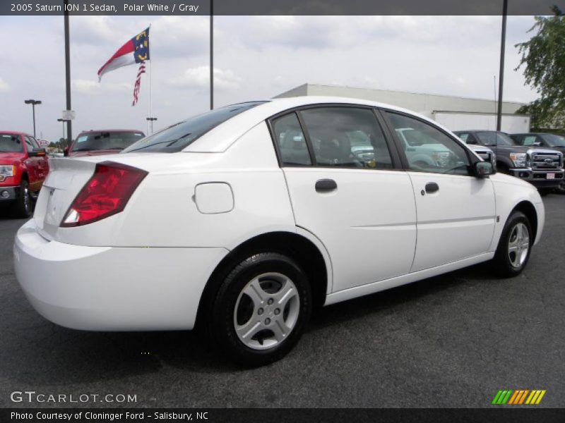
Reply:
<svg viewBox="0 0 565 423"><path fill-rule="evenodd" d="M158 133L143 138L129 148L124 149L123 153L129 152L162 152L174 153L179 152L190 145L198 137L201 137L209 130L220 125L220 123L251 109L258 104L264 102L249 102L232 104L231 106L220 107L208 111L204 114L193 116L169 126Z"/></svg>

